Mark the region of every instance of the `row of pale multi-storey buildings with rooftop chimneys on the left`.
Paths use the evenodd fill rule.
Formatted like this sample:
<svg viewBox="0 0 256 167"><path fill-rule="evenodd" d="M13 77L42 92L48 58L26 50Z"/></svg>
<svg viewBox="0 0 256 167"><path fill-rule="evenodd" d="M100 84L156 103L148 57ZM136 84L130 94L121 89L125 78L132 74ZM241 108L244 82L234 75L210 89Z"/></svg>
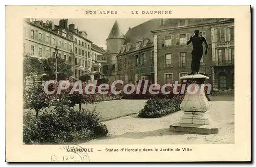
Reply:
<svg viewBox="0 0 256 167"><path fill-rule="evenodd" d="M92 41L86 31L79 31L68 19L60 19L59 25L53 21L43 22L25 19L23 23L23 53L26 56L47 59L55 57L57 46L59 57L72 65L73 78L92 72ZM95 47L97 46L94 44Z"/></svg>

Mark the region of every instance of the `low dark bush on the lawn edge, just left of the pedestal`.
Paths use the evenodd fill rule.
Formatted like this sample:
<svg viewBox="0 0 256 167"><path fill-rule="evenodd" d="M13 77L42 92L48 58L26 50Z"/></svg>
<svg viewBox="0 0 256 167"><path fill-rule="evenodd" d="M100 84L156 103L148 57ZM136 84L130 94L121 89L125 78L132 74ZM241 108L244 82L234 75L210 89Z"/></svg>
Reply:
<svg viewBox="0 0 256 167"><path fill-rule="evenodd" d="M180 110L180 104L183 100L182 95L174 96L172 99L161 97L147 100L146 105L139 112L139 117L156 118L168 115Z"/></svg>

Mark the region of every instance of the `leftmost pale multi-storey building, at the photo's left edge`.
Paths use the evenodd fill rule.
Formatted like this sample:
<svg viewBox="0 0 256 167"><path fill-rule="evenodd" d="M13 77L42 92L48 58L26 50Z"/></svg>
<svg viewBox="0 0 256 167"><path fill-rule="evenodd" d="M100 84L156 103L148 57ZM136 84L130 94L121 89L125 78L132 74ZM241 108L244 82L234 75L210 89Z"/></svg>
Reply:
<svg viewBox="0 0 256 167"><path fill-rule="evenodd" d="M23 53L39 59L58 56L72 63L73 40L65 30L59 30L52 21L25 19L23 23Z"/></svg>

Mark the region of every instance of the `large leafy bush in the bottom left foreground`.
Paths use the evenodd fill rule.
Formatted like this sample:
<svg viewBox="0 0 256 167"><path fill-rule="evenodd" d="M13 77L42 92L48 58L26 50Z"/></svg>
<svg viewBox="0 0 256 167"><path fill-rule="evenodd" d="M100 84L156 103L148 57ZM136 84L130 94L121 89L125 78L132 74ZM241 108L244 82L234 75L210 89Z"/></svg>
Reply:
<svg viewBox="0 0 256 167"><path fill-rule="evenodd" d="M24 114L23 140L25 144L65 144L106 136L109 131L99 119L95 111L75 111L66 106L45 111L37 120L28 112Z"/></svg>

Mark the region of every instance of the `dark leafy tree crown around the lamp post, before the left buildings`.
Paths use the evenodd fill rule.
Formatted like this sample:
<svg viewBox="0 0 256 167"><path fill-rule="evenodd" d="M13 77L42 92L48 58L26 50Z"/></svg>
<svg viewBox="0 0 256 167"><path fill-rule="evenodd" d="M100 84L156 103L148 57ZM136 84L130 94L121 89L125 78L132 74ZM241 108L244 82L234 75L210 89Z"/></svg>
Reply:
<svg viewBox="0 0 256 167"><path fill-rule="evenodd" d="M45 76L43 80L55 80L56 76L56 58L51 57L49 59L42 60L42 66L44 67ZM68 64L64 59L57 57L57 74L58 80L66 80L73 75L72 65Z"/></svg>

